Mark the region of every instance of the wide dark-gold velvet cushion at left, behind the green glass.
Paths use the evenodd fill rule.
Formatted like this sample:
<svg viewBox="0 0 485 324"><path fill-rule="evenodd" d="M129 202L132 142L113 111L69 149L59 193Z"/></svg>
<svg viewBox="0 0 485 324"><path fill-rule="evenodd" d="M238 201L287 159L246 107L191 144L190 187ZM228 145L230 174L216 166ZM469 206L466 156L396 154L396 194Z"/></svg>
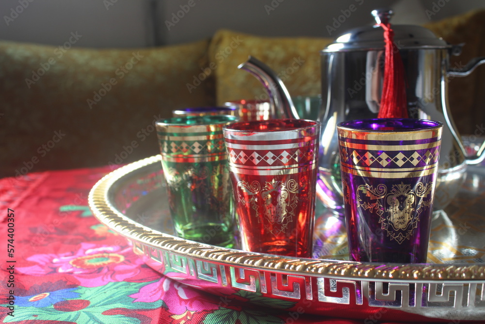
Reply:
<svg viewBox="0 0 485 324"><path fill-rule="evenodd" d="M187 86L208 45L97 50L0 41L0 176L157 154L155 119L214 103L210 80Z"/></svg>

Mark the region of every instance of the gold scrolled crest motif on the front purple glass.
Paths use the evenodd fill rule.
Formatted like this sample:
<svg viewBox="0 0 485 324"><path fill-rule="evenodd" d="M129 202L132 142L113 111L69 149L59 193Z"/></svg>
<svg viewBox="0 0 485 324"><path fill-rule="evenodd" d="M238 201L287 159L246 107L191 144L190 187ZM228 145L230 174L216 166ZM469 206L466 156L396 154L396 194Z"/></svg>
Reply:
<svg viewBox="0 0 485 324"><path fill-rule="evenodd" d="M381 229L399 244L408 240L420 222L420 214L430 208L432 184L411 185L401 182L391 189L384 184L376 188L369 184L357 188L357 208L379 215Z"/></svg>

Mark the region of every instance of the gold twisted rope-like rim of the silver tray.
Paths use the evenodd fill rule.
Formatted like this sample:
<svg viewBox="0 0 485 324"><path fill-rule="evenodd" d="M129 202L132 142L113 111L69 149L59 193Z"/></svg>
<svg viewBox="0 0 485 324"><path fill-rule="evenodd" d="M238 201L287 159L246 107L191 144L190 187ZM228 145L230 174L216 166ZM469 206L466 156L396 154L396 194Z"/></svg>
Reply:
<svg viewBox="0 0 485 324"><path fill-rule="evenodd" d="M88 195L89 207L97 220L125 238L154 249L259 271L363 281L485 282L485 263L382 264L275 256L198 243L156 231L131 220L117 210L108 198L110 190L118 181L131 176L133 172L154 167L156 163L161 163L160 154L130 163L101 178Z"/></svg>

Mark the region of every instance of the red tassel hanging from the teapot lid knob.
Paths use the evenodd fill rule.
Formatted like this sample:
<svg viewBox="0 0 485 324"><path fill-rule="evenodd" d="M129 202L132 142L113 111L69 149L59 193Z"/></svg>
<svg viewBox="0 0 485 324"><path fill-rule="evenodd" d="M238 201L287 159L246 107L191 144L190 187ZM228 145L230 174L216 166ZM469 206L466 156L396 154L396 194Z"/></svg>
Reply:
<svg viewBox="0 0 485 324"><path fill-rule="evenodd" d="M408 118L404 64L399 49L394 44L394 31L390 24L380 23L384 29L385 61L381 106L377 118Z"/></svg>

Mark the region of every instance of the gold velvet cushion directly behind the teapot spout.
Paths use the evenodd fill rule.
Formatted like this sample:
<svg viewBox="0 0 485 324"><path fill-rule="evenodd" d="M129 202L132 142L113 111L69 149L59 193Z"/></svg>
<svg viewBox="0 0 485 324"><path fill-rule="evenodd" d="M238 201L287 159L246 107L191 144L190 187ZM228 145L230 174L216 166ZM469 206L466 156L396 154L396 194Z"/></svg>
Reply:
<svg viewBox="0 0 485 324"><path fill-rule="evenodd" d="M237 68L249 55L272 68L291 96L320 94L320 51L332 41L331 38L262 37L218 31L209 48L216 102L261 99L265 94L252 74Z"/></svg>

